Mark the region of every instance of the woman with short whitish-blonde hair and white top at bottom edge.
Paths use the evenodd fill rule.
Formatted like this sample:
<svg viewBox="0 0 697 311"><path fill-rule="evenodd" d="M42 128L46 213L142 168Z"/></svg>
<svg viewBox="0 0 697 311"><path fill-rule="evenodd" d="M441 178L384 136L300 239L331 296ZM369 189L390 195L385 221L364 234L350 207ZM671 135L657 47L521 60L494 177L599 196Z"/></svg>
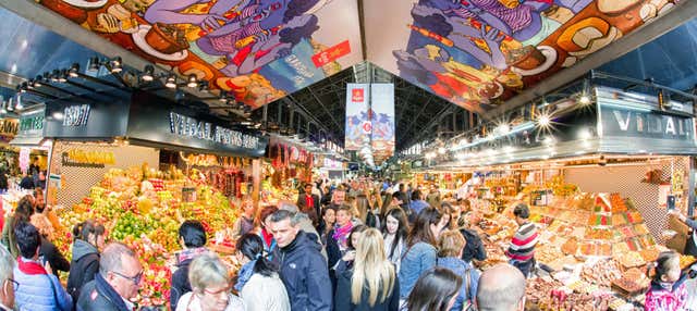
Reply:
<svg viewBox="0 0 697 311"><path fill-rule="evenodd" d="M184 294L176 311L244 311L244 301L230 293L228 268L215 253L205 253L192 261L188 282L193 291Z"/></svg>

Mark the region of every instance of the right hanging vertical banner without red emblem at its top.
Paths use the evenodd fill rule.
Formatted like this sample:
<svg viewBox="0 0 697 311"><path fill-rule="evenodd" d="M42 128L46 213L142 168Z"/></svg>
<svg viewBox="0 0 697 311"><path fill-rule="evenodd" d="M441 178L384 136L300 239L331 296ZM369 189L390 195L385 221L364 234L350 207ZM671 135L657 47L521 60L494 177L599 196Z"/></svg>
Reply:
<svg viewBox="0 0 697 311"><path fill-rule="evenodd" d="M381 162L394 154L394 85L371 84L372 156Z"/></svg>

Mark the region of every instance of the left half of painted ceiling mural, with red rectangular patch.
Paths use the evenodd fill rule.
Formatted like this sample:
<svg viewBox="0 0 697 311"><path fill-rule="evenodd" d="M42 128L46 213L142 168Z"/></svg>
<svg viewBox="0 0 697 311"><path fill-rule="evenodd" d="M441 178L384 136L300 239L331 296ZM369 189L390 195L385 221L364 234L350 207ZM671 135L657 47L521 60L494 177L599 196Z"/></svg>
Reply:
<svg viewBox="0 0 697 311"><path fill-rule="evenodd" d="M363 61L355 0L40 0L258 108Z"/></svg>

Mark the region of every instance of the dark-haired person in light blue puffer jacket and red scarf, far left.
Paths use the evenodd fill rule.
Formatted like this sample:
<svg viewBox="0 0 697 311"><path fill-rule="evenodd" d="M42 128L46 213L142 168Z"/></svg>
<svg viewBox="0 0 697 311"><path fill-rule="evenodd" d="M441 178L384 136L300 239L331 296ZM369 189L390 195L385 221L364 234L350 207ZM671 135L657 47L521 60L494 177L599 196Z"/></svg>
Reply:
<svg viewBox="0 0 697 311"><path fill-rule="evenodd" d="M73 298L53 275L50 264L39 259L41 238L38 229L30 223L20 222L14 227L14 236L20 249L13 271L14 279L21 285L14 293L20 310L71 310Z"/></svg>

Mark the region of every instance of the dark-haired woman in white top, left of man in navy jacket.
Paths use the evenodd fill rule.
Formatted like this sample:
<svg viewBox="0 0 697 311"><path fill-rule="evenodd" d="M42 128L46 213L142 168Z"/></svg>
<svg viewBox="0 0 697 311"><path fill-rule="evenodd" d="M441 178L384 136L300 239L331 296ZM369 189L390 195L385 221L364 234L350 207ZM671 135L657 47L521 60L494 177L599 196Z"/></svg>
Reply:
<svg viewBox="0 0 697 311"><path fill-rule="evenodd" d="M240 269L235 289L247 311L291 310L288 291L274 265L265 257L264 241L255 234L245 234L236 245Z"/></svg>

